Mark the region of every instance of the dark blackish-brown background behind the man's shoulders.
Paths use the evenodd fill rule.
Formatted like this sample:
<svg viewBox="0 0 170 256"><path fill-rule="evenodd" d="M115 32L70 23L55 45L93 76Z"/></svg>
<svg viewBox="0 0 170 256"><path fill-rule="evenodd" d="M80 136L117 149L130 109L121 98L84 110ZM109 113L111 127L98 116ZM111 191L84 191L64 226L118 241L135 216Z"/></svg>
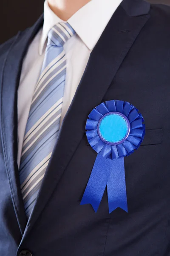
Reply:
<svg viewBox="0 0 170 256"><path fill-rule="evenodd" d="M149 1L170 5L170 0ZM18 30L32 26L43 12L43 3L44 0L0 0L0 44L14 36Z"/></svg>

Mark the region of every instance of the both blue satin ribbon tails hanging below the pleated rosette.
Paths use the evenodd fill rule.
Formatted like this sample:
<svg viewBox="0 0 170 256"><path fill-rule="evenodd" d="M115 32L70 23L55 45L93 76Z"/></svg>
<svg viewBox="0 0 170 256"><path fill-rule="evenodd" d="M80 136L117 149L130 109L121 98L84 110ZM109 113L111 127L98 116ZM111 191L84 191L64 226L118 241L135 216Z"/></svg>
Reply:
<svg viewBox="0 0 170 256"><path fill-rule="evenodd" d="M127 212L124 158L111 160L97 155L80 204L91 204L97 212L106 186L109 213L117 207Z"/></svg>

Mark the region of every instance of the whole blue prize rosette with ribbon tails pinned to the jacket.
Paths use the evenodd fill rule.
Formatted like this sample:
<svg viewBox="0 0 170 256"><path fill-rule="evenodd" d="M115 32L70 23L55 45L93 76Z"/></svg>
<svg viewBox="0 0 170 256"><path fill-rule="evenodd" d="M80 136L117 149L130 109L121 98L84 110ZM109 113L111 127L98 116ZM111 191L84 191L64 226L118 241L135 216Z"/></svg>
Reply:
<svg viewBox="0 0 170 256"><path fill-rule="evenodd" d="M127 212L124 157L142 143L145 125L133 105L110 100L94 108L86 122L88 143L98 153L80 204L97 212L107 186L109 213L117 207Z"/></svg>

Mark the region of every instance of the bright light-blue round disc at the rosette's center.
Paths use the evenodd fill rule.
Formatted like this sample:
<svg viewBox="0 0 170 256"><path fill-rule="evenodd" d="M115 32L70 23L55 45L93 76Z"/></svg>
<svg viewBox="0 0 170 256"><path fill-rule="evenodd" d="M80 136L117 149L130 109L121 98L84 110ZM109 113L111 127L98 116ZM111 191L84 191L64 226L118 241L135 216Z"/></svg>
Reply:
<svg viewBox="0 0 170 256"><path fill-rule="evenodd" d="M103 142L109 145L118 145L129 136L130 123L122 113L110 112L102 116L97 130Z"/></svg>

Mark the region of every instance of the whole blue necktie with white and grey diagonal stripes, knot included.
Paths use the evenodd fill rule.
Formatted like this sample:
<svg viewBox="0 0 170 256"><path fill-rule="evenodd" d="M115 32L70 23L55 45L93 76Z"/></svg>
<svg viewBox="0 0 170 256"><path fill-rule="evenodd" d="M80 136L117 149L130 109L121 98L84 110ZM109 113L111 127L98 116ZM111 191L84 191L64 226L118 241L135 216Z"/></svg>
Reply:
<svg viewBox="0 0 170 256"><path fill-rule="evenodd" d="M48 33L45 58L31 102L20 163L21 192L28 218L57 141L66 75L63 45L74 34L72 27L64 22L57 23Z"/></svg>

